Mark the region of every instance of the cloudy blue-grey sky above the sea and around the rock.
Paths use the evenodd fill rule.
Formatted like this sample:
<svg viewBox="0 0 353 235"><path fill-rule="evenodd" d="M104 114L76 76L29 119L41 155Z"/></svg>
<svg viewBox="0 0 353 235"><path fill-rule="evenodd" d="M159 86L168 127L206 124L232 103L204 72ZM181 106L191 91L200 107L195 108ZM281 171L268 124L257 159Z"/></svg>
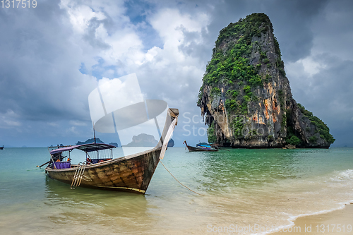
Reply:
<svg viewBox="0 0 353 235"><path fill-rule="evenodd" d="M219 31L254 12L273 23L294 98L328 124L333 147L353 147L349 0L0 4L0 145L73 145L91 138L88 95L100 80L130 73L145 99L179 108L177 145L206 140L196 107L205 66ZM114 134L97 135L118 142Z"/></svg>

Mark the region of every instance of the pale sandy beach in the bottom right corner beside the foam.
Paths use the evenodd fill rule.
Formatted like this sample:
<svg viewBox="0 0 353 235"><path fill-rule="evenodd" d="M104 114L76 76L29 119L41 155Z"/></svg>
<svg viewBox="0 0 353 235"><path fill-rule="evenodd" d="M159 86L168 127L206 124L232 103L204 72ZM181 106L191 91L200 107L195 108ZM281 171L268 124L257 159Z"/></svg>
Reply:
<svg viewBox="0 0 353 235"><path fill-rule="evenodd" d="M300 229L299 229L300 228ZM294 220L294 227L273 234L353 234L353 205L345 205L321 215L309 215Z"/></svg>

